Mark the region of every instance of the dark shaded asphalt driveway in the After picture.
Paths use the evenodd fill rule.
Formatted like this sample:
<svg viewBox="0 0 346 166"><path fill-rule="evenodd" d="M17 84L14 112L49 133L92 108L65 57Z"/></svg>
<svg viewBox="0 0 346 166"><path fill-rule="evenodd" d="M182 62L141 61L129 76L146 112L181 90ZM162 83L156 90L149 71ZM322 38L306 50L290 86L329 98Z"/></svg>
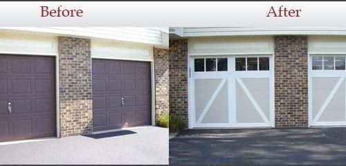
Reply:
<svg viewBox="0 0 346 166"><path fill-rule="evenodd" d="M346 128L188 130L170 164L346 164Z"/></svg>

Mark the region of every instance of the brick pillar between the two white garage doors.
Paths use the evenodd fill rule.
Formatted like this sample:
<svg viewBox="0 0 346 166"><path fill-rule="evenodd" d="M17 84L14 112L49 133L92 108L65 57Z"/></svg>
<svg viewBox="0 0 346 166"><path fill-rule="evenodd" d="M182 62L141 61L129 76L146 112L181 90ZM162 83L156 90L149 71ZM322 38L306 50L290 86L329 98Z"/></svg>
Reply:
<svg viewBox="0 0 346 166"><path fill-rule="evenodd" d="M307 37L275 37L275 127L307 127Z"/></svg>

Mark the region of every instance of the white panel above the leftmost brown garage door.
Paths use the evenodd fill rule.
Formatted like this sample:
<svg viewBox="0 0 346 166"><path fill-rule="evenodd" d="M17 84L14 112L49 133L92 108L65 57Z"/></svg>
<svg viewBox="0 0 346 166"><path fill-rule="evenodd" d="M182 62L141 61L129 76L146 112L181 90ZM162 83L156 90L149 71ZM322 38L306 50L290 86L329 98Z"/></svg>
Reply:
<svg viewBox="0 0 346 166"><path fill-rule="evenodd" d="M57 55L57 37L0 32L0 53Z"/></svg>

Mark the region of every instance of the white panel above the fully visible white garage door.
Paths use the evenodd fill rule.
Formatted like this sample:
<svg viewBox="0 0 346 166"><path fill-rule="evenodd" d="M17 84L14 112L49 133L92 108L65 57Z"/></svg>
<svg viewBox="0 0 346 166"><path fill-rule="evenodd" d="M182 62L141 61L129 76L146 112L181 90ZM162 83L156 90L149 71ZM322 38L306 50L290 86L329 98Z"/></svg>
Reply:
<svg viewBox="0 0 346 166"><path fill-rule="evenodd" d="M188 39L189 55L272 54L273 37Z"/></svg>

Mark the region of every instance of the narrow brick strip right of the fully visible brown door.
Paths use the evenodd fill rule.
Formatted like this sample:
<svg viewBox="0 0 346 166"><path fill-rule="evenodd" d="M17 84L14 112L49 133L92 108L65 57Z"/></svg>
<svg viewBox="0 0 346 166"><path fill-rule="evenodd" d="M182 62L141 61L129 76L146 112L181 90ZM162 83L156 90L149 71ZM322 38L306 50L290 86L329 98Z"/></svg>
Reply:
<svg viewBox="0 0 346 166"><path fill-rule="evenodd" d="M156 118L160 113L168 113L170 109L170 63L168 62L168 57L167 49L154 48Z"/></svg>

